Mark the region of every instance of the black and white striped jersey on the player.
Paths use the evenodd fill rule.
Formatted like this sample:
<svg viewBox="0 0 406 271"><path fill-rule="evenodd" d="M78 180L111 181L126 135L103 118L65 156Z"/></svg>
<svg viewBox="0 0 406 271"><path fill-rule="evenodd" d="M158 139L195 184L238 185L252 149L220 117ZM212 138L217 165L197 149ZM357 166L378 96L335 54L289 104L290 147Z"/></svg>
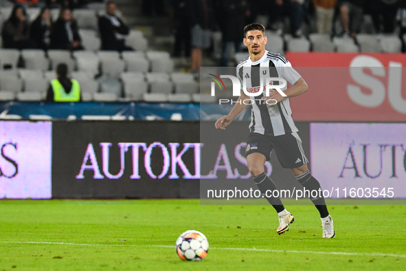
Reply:
<svg viewBox="0 0 406 271"><path fill-rule="evenodd" d="M247 91L256 92L260 90L260 80L265 82L267 77L284 78L292 85L302 76L293 69L291 63L280 54L274 54L265 50L264 56L260 60L252 62L247 57L237 65L237 77L243 89L243 80ZM279 85L277 81L271 81L273 85ZM262 83L264 85L264 83ZM287 87L282 88L282 90ZM260 133L262 135L284 135L285 133L297 132L295 123L292 119L292 110L289 98L285 97L276 105L264 105L263 100L265 91L259 96L250 96L251 98L251 123L249 129L251 133Z"/></svg>

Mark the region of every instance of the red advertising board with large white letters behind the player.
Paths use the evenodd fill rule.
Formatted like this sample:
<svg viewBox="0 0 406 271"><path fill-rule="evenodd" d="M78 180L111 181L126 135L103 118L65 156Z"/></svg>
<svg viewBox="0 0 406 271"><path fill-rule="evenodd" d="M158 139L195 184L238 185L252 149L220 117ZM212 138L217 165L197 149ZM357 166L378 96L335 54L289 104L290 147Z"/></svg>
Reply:
<svg viewBox="0 0 406 271"><path fill-rule="evenodd" d="M293 53L308 91L291 98L294 120L406 121L406 54Z"/></svg>

